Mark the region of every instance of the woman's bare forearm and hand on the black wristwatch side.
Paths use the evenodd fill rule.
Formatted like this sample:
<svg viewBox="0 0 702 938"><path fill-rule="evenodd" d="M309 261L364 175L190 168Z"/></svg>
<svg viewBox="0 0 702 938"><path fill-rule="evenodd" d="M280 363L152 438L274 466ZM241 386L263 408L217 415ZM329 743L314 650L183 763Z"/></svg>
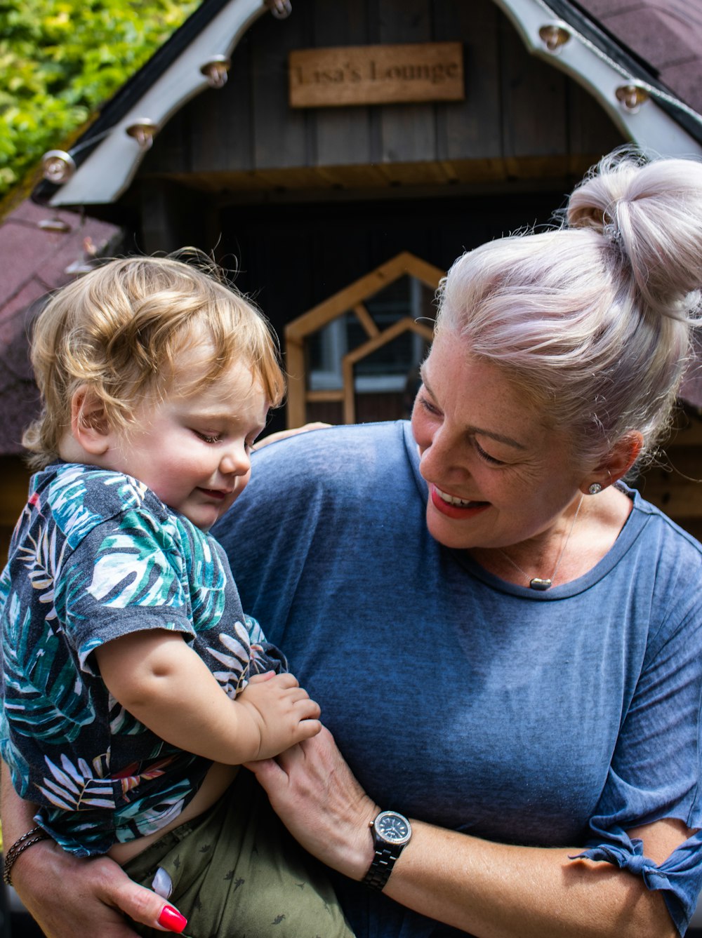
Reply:
<svg viewBox="0 0 702 938"><path fill-rule="evenodd" d="M373 859L378 806L324 730L276 760L249 766L302 845L355 880ZM383 805L391 808L392 805ZM572 860L578 848L521 847L412 821L413 836L384 892L476 938L677 938L662 895L608 863ZM677 821L632 831L660 862L686 840Z"/></svg>

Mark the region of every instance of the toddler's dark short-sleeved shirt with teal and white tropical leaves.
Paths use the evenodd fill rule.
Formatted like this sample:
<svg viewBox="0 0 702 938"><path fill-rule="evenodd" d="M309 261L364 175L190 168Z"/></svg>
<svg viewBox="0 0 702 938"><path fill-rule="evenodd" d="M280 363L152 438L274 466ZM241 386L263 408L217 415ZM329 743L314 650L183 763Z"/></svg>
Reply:
<svg viewBox="0 0 702 938"><path fill-rule="evenodd" d="M0 610L0 751L40 806L37 823L77 855L160 830L210 765L114 700L95 648L140 629L181 632L230 697L250 672L285 667L243 613L219 543L143 483L94 466L32 477Z"/></svg>

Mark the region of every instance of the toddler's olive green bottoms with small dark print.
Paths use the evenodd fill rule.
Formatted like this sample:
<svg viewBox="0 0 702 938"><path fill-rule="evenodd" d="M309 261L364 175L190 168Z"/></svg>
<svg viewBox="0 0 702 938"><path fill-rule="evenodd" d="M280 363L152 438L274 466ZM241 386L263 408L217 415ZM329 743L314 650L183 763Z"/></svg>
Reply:
<svg viewBox="0 0 702 938"><path fill-rule="evenodd" d="M245 769L205 814L124 866L148 888L159 868L171 878L168 901L188 919L189 938L353 938L324 867L292 838ZM167 933L132 927L150 938Z"/></svg>

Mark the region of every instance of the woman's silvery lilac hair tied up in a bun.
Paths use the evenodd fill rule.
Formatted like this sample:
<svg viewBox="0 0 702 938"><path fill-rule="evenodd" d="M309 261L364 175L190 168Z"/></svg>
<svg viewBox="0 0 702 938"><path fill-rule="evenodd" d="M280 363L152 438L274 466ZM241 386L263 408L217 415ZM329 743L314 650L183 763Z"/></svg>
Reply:
<svg viewBox="0 0 702 938"><path fill-rule="evenodd" d="M668 429L700 319L702 164L605 157L560 227L466 252L439 288L437 330L505 369L579 460L627 431ZM545 411L544 411L545 409Z"/></svg>

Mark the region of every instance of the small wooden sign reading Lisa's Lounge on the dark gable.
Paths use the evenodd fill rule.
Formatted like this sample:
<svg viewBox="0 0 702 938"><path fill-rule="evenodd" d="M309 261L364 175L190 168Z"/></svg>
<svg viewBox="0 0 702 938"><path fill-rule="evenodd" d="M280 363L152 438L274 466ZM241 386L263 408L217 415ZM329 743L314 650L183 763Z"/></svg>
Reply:
<svg viewBox="0 0 702 938"><path fill-rule="evenodd" d="M465 98L461 42L298 49L289 75L293 108Z"/></svg>

